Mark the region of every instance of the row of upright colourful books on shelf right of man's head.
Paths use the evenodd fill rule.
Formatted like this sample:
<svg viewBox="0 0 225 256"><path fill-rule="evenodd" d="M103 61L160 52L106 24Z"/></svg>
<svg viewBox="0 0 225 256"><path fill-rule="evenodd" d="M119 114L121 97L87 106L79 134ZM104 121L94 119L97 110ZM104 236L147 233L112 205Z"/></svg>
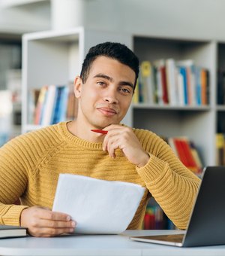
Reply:
<svg viewBox="0 0 225 256"><path fill-rule="evenodd" d="M133 103L208 105L209 72L192 59L141 62Z"/></svg>

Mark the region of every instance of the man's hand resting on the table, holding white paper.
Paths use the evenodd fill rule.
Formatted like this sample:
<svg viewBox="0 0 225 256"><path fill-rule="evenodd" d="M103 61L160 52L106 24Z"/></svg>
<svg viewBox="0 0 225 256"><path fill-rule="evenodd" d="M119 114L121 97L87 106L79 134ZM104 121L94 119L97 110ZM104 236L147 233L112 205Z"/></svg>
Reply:
<svg viewBox="0 0 225 256"><path fill-rule="evenodd" d="M62 212L33 206L24 209L20 216L20 224L28 227L31 236L58 236L62 233L73 233L75 222Z"/></svg>

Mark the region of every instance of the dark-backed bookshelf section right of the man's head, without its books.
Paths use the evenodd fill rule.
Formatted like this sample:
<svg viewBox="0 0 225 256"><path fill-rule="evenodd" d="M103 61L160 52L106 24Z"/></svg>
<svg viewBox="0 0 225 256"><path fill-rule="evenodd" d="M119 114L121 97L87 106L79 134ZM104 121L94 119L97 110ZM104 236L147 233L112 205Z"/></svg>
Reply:
<svg viewBox="0 0 225 256"><path fill-rule="evenodd" d="M154 38L133 36L133 50L140 62L155 59L193 59L197 66L210 73L208 105L133 105L133 126L152 130L160 136L187 136L199 150L205 165L215 162L214 134L216 133L215 111L215 56L214 41L195 41L188 38ZM146 118L148 117L148 118ZM207 138L207 139L205 139Z"/></svg>

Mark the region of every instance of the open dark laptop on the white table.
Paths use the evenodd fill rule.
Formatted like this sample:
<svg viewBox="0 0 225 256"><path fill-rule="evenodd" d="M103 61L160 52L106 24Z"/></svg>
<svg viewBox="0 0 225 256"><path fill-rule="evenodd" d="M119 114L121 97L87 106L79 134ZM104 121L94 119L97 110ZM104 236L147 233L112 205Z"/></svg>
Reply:
<svg viewBox="0 0 225 256"><path fill-rule="evenodd" d="M184 234L131 236L139 242L192 247L225 244L225 166L209 166L202 172L187 230Z"/></svg>

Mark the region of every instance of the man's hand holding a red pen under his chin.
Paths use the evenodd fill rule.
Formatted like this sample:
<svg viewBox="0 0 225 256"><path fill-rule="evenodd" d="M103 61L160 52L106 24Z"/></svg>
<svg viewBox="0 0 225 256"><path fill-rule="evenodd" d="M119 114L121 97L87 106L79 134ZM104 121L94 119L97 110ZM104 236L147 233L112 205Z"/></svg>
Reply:
<svg viewBox="0 0 225 256"><path fill-rule="evenodd" d="M108 151L110 157L115 158L115 149L120 148L127 160L136 166L142 167L148 163L149 155L143 150L130 127L111 124L104 130L108 133L104 138L103 150Z"/></svg>

